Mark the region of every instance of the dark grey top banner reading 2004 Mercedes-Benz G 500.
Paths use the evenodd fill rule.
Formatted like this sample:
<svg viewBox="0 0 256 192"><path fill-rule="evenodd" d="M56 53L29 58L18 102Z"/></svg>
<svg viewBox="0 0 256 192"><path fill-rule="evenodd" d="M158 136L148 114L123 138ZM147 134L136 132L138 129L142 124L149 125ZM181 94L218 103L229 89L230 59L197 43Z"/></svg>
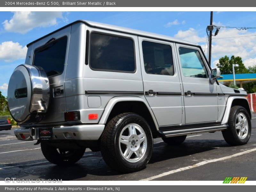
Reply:
<svg viewBox="0 0 256 192"><path fill-rule="evenodd" d="M3 0L0 7L256 7L252 0ZM203 10L202 10L203 11Z"/></svg>

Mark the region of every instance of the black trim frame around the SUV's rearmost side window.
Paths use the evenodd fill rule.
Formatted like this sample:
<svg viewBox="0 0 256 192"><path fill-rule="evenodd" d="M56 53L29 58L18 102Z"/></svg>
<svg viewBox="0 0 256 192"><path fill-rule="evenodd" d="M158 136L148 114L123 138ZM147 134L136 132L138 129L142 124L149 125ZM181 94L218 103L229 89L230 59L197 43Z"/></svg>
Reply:
<svg viewBox="0 0 256 192"><path fill-rule="evenodd" d="M91 43L92 43L91 38L92 38L92 34L93 33L101 34L101 35L114 36L114 37L121 37L121 38L132 40L132 43L133 43L133 53L134 53L134 65L135 65L134 71L120 71L120 70L108 70L108 69L95 69L95 68L92 68L92 66L91 66L90 49L91 49ZM88 54L88 65L89 65L89 67L93 71L106 71L106 72L118 72L118 73L136 73L136 71L137 71L136 51L135 51L135 42L134 42L134 39L132 37L116 35L116 34L111 34L111 33L106 33L106 32L100 32L100 31L89 31L88 34L89 34L89 45L88 45L88 50L86 50L86 53Z"/></svg>

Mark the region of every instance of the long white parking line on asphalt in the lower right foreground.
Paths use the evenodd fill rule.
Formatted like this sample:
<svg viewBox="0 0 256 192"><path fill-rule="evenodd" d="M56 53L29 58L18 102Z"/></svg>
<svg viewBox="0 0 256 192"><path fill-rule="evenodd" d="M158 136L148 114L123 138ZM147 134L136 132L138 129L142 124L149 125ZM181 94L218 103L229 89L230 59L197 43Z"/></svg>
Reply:
<svg viewBox="0 0 256 192"><path fill-rule="evenodd" d="M199 167L199 166L202 166L202 165L205 165L205 164L208 164L208 163L223 161L223 160L226 160L226 159L230 159L232 157L241 156L241 155L244 155L244 154L247 154L247 153L251 153L253 151L256 151L256 148L249 149L249 150L246 150L246 151L243 151L243 152L240 152L240 153L236 153L236 154L233 154L233 155L230 155L230 156L221 157L221 158L218 158L218 159L211 159L211 160L202 161L202 162L194 164L194 165L190 165L190 166L187 166L187 167L182 167L182 168L179 168L179 169L175 169L175 170L172 170L172 171L161 173L159 175L148 177L146 179L142 179L141 181L148 181L148 180L157 179L157 178L160 178L160 177L164 177L166 175L170 175L170 174L173 174L173 173L185 171L185 170L192 169L192 168L195 168L195 167Z"/></svg>

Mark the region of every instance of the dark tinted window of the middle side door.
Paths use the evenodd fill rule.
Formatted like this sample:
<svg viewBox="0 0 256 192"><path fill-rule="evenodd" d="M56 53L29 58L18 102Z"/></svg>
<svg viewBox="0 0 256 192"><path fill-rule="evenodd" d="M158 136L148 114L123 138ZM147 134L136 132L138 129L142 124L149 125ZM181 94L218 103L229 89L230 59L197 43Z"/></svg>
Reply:
<svg viewBox="0 0 256 192"><path fill-rule="evenodd" d="M142 41L142 52L146 73L174 75L172 47L170 45Z"/></svg>

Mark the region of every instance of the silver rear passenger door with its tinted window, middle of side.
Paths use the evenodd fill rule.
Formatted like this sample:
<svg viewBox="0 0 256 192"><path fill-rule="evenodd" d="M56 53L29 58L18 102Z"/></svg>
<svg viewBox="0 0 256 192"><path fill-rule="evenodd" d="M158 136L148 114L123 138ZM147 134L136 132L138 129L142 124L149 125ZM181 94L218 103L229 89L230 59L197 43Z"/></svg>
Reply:
<svg viewBox="0 0 256 192"><path fill-rule="evenodd" d="M174 44L139 37L144 93L159 126L182 121L182 98Z"/></svg>

